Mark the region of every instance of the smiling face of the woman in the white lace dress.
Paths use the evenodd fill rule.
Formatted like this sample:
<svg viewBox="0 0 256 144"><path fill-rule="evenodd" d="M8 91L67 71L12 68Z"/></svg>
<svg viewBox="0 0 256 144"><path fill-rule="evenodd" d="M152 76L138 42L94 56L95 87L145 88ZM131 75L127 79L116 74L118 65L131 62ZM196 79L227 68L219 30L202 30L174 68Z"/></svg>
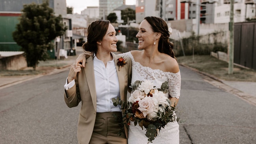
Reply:
<svg viewBox="0 0 256 144"><path fill-rule="evenodd" d="M150 24L147 20L143 20L141 24L139 24L139 32L136 37L139 39L139 50L143 50L149 46L154 45L154 35L155 32L152 30Z"/></svg>

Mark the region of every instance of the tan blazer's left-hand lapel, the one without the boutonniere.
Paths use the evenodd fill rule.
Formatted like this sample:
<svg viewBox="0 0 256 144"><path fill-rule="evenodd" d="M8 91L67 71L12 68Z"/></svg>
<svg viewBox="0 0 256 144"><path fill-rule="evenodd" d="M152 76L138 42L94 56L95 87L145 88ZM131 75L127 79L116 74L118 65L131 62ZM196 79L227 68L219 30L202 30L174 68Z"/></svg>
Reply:
<svg viewBox="0 0 256 144"><path fill-rule="evenodd" d="M86 80L88 83L88 87L91 93L91 99L93 100L93 107L96 111L96 87L95 87L95 76L94 76L94 68L93 68L93 57L89 57L86 59L86 66L84 68Z"/></svg>

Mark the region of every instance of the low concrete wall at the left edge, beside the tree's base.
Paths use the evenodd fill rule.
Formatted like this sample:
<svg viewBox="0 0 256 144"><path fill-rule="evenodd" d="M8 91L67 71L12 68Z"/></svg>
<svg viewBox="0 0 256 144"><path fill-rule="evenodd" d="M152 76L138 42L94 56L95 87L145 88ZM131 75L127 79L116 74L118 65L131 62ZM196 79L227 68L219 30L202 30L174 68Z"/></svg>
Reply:
<svg viewBox="0 0 256 144"><path fill-rule="evenodd" d="M27 67L26 58L23 54L0 57L1 70L20 70Z"/></svg>

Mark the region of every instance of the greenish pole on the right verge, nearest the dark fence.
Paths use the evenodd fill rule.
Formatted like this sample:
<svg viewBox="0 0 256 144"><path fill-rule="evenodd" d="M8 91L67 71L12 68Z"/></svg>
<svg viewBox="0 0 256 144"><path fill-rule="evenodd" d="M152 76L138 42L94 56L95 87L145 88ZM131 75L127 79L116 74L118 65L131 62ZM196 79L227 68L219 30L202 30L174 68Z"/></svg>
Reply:
<svg viewBox="0 0 256 144"><path fill-rule="evenodd" d="M230 22L229 22L229 60L228 74L233 74L234 68L234 0L230 0Z"/></svg>

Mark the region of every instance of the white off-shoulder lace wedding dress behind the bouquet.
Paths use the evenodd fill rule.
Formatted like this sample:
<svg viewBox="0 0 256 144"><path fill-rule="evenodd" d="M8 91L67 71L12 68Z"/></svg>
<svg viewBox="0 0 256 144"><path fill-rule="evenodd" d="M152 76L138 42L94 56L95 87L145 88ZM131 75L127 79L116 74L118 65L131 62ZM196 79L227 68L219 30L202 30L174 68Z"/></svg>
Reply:
<svg viewBox="0 0 256 144"><path fill-rule="evenodd" d="M142 66L140 63L134 61L134 57L131 52L121 54L132 59L132 84L136 80L150 80L157 88L161 87L161 84L168 81L169 95L172 97L180 97L180 72L171 73L163 72L161 70L154 70L150 67ZM167 95L168 96L168 95ZM148 138L145 136L145 129L141 129L139 125L131 125L128 129L128 144L147 144ZM159 135L152 141L153 144L179 144L179 125L177 122L170 122L162 128Z"/></svg>

